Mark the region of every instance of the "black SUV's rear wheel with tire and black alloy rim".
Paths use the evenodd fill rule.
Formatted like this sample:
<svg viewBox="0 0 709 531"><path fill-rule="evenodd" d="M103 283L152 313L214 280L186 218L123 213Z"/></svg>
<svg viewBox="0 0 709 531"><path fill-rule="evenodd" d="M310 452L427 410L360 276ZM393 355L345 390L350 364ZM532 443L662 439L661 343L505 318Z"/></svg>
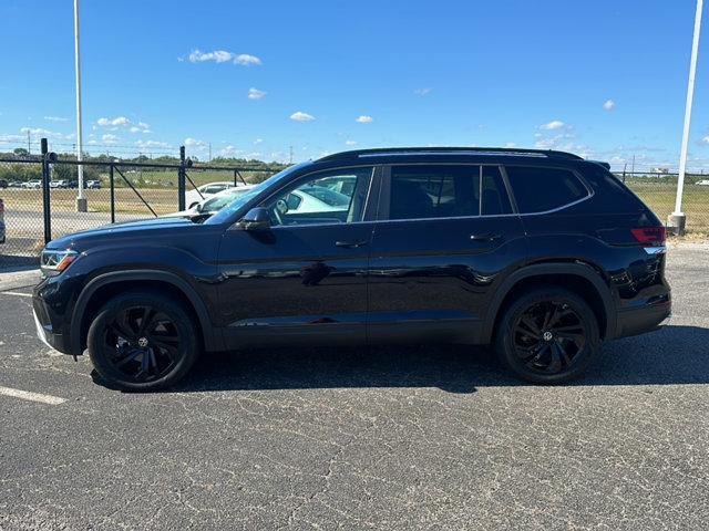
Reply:
<svg viewBox="0 0 709 531"><path fill-rule="evenodd" d="M535 384L580 376L598 355L599 342L598 322L586 301L555 287L517 296L503 311L495 334L502 364Z"/></svg>

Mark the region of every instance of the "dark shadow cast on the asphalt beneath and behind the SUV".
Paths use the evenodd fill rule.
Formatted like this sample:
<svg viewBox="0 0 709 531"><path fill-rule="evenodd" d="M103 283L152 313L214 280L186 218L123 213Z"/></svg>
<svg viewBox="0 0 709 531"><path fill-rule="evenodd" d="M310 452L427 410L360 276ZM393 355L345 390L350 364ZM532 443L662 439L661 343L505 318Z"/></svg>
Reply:
<svg viewBox="0 0 709 531"><path fill-rule="evenodd" d="M709 329L665 326L604 344L599 358L566 385L676 385L709 383ZM527 385L506 373L487 348L412 346L258 350L210 353L168 392Z"/></svg>

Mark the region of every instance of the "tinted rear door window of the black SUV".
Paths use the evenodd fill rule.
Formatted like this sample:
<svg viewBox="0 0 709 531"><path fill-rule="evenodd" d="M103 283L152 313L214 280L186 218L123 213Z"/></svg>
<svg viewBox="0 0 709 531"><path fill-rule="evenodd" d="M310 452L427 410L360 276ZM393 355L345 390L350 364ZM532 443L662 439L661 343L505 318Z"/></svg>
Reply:
<svg viewBox="0 0 709 531"><path fill-rule="evenodd" d="M496 166L393 166L389 219L510 214Z"/></svg>

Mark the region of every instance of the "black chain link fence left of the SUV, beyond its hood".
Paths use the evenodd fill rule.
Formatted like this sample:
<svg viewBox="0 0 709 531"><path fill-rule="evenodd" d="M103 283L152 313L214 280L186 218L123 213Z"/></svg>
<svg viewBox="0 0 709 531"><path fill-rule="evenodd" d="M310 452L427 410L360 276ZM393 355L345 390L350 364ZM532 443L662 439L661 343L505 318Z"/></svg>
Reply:
<svg viewBox="0 0 709 531"><path fill-rule="evenodd" d="M215 181L243 186L282 169L198 166L181 153L178 164L0 156L0 260L38 257L47 241L71 232L184 210L186 198L203 200ZM78 211L80 195L86 211Z"/></svg>

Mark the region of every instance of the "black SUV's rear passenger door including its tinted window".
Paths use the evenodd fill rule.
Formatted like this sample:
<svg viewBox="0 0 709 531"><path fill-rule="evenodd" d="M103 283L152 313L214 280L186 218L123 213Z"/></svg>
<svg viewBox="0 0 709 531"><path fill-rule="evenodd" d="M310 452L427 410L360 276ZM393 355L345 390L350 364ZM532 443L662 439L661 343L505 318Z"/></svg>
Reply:
<svg viewBox="0 0 709 531"><path fill-rule="evenodd" d="M384 168L372 239L371 343L477 343L485 309L526 259L496 165Z"/></svg>

